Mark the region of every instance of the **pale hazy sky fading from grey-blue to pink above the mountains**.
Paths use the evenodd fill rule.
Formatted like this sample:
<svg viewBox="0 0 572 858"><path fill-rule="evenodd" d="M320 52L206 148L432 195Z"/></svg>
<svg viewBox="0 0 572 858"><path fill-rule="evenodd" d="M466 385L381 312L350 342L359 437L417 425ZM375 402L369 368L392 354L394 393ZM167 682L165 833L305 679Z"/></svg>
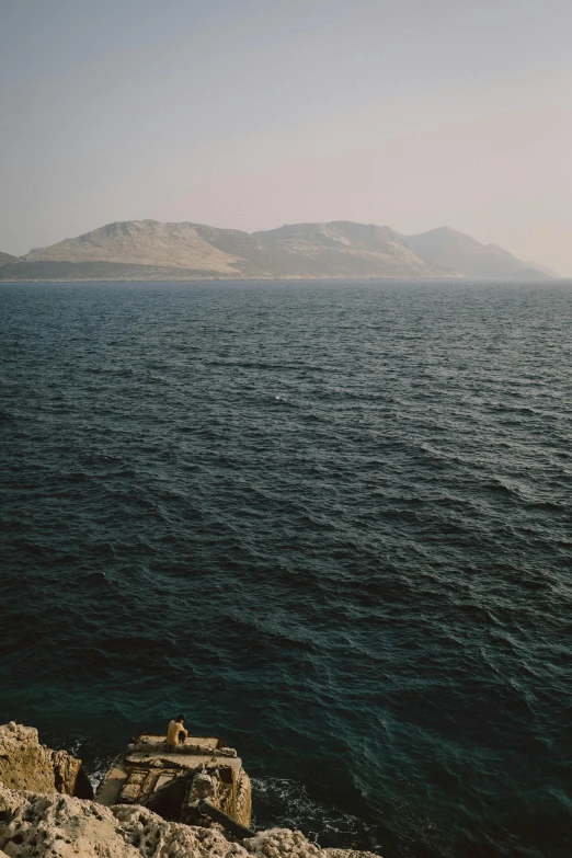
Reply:
<svg viewBox="0 0 572 858"><path fill-rule="evenodd" d="M450 226L572 276L571 0L0 0L0 251Z"/></svg>

